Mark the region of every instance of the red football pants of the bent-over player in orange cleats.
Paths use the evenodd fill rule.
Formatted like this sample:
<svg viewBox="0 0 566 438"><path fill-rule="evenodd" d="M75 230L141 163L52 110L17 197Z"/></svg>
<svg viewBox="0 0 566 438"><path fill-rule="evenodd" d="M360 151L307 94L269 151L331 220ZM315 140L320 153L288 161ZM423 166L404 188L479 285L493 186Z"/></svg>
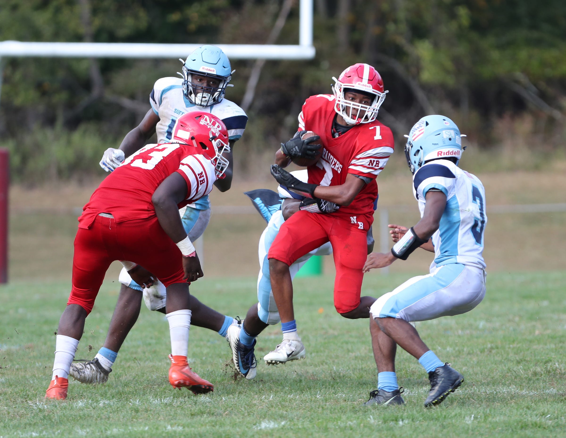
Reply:
<svg viewBox="0 0 566 438"><path fill-rule="evenodd" d="M72 289L67 302L91 313L106 270L115 260L138 263L168 287L183 280L182 254L157 218L116 223L96 216L90 228L79 228L72 259Z"/></svg>

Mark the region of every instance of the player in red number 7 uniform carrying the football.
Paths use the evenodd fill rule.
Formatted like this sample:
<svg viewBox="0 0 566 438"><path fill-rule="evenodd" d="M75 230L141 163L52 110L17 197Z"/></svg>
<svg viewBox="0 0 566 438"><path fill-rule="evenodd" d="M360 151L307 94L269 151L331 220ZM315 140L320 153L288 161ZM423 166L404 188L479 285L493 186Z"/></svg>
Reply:
<svg viewBox="0 0 566 438"><path fill-rule="evenodd" d="M311 96L299 115L299 133L313 131L324 148L320 160L307 168L308 183L283 167L291 158L308 157L312 146L295 136L276 153L271 173L281 185L324 205L321 214L298 211L281 225L269 250L273 297L281 317L283 341L265 355L266 363L285 363L305 357L293 311L289 265L325 242L332 244L336 265L334 303L345 318L369 318L373 297L360 297L367 258L367 230L373 222L378 196L375 181L393 153L391 130L376 120L387 93L374 67L355 64L333 78L333 95ZM332 204L331 204L332 205Z"/></svg>

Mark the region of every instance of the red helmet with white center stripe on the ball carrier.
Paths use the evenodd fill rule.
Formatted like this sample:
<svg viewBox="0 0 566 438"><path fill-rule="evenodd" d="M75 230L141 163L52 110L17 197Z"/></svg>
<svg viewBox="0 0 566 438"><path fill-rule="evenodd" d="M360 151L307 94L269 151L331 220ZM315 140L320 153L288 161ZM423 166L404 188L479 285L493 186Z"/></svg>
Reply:
<svg viewBox="0 0 566 438"><path fill-rule="evenodd" d="M349 125L358 123L373 122L378 116L379 107L385 100L387 91L383 90L383 80L378 71L369 64L354 64L346 68L336 79L332 78L336 84L332 86L332 91L336 97L334 109L340 114ZM346 101L344 93L349 90L357 90L365 94L371 94L374 101L371 105L362 105ZM363 116L359 116L363 114Z"/></svg>

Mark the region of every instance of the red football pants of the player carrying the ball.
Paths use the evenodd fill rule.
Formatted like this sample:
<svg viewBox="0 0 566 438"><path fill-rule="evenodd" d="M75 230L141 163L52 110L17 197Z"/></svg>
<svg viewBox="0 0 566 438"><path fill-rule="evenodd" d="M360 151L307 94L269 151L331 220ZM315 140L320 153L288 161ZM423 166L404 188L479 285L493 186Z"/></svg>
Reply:
<svg viewBox="0 0 566 438"><path fill-rule="evenodd" d="M354 310L362 290L367 259L367 231L334 215L298 211L281 225L268 258L288 265L330 241L336 266L334 306L338 313Z"/></svg>

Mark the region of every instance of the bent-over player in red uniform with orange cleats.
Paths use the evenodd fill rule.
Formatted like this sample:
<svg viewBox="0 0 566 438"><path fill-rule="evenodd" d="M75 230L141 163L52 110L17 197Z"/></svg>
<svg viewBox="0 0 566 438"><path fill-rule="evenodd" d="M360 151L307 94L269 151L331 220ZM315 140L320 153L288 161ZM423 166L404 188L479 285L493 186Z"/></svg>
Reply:
<svg viewBox="0 0 566 438"><path fill-rule="evenodd" d="M171 385L194 393L213 391L213 385L187 363L191 323L187 283L203 276L203 271L179 209L206 196L224 177L229 163L222 153L230 150L228 131L215 115L188 112L177 120L172 141L144 146L131 155L84 206L75 238L71 295L59 320L53 380L46 398L67 397L68 372L85 318L115 260L139 284L151 284L155 275L167 288Z"/></svg>

